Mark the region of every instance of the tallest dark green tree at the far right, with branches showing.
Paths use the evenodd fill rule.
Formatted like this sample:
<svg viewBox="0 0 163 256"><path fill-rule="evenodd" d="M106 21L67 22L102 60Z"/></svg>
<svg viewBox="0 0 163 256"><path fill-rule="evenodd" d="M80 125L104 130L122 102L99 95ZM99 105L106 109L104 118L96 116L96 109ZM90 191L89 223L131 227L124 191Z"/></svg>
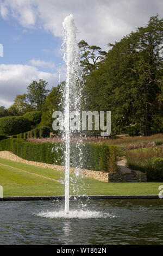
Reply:
<svg viewBox="0 0 163 256"><path fill-rule="evenodd" d="M138 51L137 62L134 63L137 101L132 104L132 109L142 135L150 135L159 114L157 101L162 86L162 58L159 56L159 46L163 39L162 26L163 19L159 20L159 15L156 15L150 17L147 27L138 28L136 33L130 35L133 41L136 39Z"/></svg>

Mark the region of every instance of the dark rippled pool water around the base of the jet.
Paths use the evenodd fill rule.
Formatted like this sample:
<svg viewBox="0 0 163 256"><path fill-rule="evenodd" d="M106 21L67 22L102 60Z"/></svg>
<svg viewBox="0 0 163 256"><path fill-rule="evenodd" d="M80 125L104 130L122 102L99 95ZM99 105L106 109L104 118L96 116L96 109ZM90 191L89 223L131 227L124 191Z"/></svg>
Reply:
<svg viewBox="0 0 163 256"><path fill-rule="evenodd" d="M163 199L91 200L79 215L78 206L57 218L64 202L0 202L0 245L163 245Z"/></svg>

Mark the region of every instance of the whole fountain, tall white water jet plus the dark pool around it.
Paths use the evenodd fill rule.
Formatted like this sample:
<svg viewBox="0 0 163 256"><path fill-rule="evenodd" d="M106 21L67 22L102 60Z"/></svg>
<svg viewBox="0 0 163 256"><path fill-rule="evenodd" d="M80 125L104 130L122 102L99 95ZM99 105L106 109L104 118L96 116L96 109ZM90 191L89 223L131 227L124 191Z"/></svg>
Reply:
<svg viewBox="0 0 163 256"><path fill-rule="evenodd" d="M80 54L72 15L67 16L63 22L63 33L62 49L67 67L63 95L63 138L66 145L65 208L57 200L24 199L0 202L0 244L162 245L160 199L90 200L90 205L87 205L85 210L79 208L77 200L69 202L70 138L73 133L69 125L70 112L75 113L80 109L82 87ZM78 141L77 147L80 146L81 143ZM82 151L80 152L76 167L80 167L82 160ZM97 252L97 248L95 249Z"/></svg>

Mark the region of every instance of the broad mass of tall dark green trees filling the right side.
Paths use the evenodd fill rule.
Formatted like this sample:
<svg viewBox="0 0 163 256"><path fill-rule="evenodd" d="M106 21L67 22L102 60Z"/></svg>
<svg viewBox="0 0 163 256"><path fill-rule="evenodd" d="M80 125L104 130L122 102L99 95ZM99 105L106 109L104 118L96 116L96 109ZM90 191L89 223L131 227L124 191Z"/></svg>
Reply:
<svg viewBox="0 0 163 256"><path fill-rule="evenodd" d="M115 133L135 126L142 135L149 135L161 116L161 42L162 19L156 15L145 28L111 45L99 68L86 76L86 106L110 110Z"/></svg>

